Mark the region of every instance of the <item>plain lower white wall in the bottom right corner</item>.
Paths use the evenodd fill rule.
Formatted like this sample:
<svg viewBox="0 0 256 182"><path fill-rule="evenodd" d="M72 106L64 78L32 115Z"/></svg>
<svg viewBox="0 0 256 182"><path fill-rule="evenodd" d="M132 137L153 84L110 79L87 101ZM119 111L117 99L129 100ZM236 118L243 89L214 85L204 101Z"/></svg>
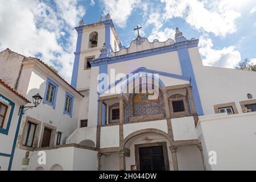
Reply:
<svg viewBox="0 0 256 182"><path fill-rule="evenodd" d="M201 117L197 132L203 143L207 169L256 169L256 113ZM216 151L217 165L208 164L208 153Z"/></svg>

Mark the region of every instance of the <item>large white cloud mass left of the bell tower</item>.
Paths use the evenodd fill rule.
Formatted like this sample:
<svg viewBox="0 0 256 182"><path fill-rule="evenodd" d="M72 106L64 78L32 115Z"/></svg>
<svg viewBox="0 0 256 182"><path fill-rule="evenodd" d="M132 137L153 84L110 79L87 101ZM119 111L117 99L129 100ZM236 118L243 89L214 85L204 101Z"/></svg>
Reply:
<svg viewBox="0 0 256 182"><path fill-rule="evenodd" d="M55 0L56 10L47 2L47 16L40 17L38 0L0 1L0 51L9 47L24 56L40 54L70 81L77 36L73 27L85 11L76 0Z"/></svg>

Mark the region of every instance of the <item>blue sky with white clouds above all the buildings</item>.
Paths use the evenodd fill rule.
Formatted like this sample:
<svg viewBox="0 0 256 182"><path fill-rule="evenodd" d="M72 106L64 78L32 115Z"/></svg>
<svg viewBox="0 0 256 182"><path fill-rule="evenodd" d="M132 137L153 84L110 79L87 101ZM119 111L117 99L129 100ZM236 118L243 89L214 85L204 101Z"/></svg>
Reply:
<svg viewBox="0 0 256 182"><path fill-rule="evenodd" d="M77 32L84 19L110 14L122 46L136 38L174 39L175 29L199 39L204 65L256 64L256 0L1 0L0 51L38 57L71 81Z"/></svg>

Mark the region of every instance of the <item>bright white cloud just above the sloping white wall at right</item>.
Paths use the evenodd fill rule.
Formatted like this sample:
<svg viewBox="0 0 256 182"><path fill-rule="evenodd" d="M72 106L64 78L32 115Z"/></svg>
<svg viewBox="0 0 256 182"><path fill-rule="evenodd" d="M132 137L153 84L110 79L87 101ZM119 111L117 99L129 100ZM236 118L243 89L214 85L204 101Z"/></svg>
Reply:
<svg viewBox="0 0 256 182"><path fill-rule="evenodd" d="M223 67L234 68L241 61L241 54L236 50L236 47L229 46L223 49L214 49L212 40L208 35L200 37L199 52L201 56L204 56L203 64Z"/></svg>

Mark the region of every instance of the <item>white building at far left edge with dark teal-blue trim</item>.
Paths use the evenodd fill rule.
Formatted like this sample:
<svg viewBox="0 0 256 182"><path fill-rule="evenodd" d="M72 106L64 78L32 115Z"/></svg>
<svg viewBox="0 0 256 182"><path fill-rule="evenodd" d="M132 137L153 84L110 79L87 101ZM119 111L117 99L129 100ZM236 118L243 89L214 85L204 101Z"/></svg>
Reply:
<svg viewBox="0 0 256 182"><path fill-rule="evenodd" d="M0 171L13 165L22 115L19 108L30 103L22 94L0 79Z"/></svg>

